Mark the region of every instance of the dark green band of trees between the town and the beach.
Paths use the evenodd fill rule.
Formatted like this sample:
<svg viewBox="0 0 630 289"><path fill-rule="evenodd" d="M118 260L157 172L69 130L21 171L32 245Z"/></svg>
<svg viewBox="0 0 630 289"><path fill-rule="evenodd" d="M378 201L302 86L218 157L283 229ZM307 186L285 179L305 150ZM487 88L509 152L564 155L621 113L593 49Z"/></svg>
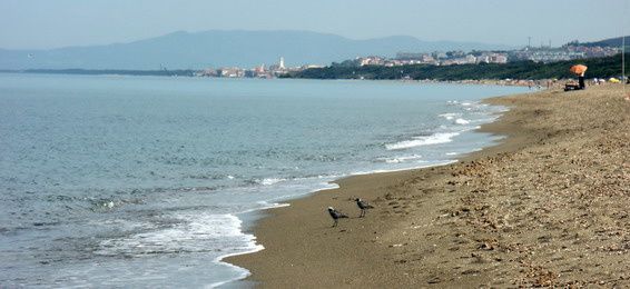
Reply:
<svg viewBox="0 0 630 289"><path fill-rule="evenodd" d="M626 53L626 58L630 59L630 53ZM588 66L588 78L610 78L621 76L620 53L607 58L592 58L552 63L519 61L505 64L414 64L401 67L346 67L333 64L325 68L312 68L298 72L291 72L283 77L306 79L432 79L441 81L482 79L565 79L574 77L571 72L569 72L569 68L573 64ZM626 63L626 71L630 71L630 66L628 63Z"/></svg>

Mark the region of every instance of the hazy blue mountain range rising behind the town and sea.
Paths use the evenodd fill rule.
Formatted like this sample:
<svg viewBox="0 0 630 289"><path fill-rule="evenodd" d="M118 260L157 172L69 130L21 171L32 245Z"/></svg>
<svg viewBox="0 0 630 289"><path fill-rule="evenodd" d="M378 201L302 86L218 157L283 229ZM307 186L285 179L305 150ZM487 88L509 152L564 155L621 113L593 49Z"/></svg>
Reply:
<svg viewBox="0 0 630 289"><path fill-rule="evenodd" d="M170 34L129 43L68 47L50 50L0 49L0 69L197 69L237 66L250 68L276 63L287 66L329 64L357 56L393 57L396 52L436 50L509 49L454 41L422 41L396 36L353 40L308 31L210 30Z"/></svg>

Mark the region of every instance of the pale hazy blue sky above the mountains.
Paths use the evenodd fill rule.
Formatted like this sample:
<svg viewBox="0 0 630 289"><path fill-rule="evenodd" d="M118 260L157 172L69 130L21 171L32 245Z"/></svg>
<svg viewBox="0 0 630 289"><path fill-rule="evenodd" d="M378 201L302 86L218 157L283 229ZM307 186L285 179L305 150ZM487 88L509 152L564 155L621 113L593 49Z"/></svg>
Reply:
<svg viewBox="0 0 630 289"><path fill-rule="evenodd" d="M353 39L553 46L630 33L630 0L0 0L0 48L129 42L173 31L311 30ZM626 20L623 20L626 16ZM626 24L622 26L622 21Z"/></svg>

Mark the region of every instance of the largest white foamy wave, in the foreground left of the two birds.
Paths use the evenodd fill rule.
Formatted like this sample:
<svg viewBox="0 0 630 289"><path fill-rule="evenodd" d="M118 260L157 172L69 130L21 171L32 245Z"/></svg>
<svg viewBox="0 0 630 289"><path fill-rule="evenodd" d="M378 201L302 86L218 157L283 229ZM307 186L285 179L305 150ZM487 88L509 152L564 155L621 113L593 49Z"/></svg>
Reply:
<svg viewBox="0 0 630 289"><path fill-rule="evenodd" d="M267 203L264 208L282 206ZM216 215L196 211L168 215L167 218L174 218L177 222L168 227L156 227L150 222L134 226L131 228L137 229L135 233L102 240L95 253L111 257L126 256L127 258L180 253L214 256L214 263L229 267L235 272L235 276L209 285L209 288L215 288L249 276L247 269L223 262L223 259L264 249L256 242L254 235L243 231L243 221L233 213ZM147 231L147 228L150 230Z"/></svg>

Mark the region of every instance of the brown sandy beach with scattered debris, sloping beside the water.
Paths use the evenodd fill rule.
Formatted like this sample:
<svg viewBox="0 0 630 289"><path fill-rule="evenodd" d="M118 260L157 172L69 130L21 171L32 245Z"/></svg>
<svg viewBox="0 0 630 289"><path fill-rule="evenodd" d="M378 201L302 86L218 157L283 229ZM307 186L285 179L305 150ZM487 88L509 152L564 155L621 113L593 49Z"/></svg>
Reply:
<svg viewBox="0 0 630 289"><path fill-rule="evenodd" d="M495 147L356 176L268 210L226 261L262 288L630 287L630 101L620 84L486 100ZM353 201L375 208L365 218ZM332 228L328 206L350 215Z"/></svg>

